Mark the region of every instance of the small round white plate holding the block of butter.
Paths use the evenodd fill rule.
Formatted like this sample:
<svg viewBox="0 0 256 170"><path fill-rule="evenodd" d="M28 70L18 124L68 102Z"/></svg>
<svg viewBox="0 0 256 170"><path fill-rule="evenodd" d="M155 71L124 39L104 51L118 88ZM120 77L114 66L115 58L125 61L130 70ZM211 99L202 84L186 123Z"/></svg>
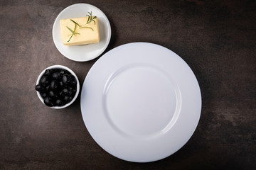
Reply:
<svg viewBox="0 0 256 170"><path fill-rule="evenodd" d="M92 12L92 16L97 16L99 21L100 42L89 45L63 45L60 36L60 20L66 18L85 17ZM55 19L53 24L53 42L59 52L70 60L85 62L100 56L107 48L111 38L110 21L99 8L90 4L74 4L68 6Z"/></svg>

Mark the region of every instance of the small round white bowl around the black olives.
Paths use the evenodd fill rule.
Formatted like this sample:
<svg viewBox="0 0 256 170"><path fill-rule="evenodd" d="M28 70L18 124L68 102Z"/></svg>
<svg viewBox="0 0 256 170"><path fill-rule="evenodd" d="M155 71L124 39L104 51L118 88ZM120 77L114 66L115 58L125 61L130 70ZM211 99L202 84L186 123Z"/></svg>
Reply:
<svg viewBox="0 0 256 170"><path fill-rule="evenodd" d="M75 75L75 73L70 68L65 67L63 65L53 65L53 66L47 67L46 69L65 69L68 72L70 72L71 74L73 74L73 76L75 77L75 79L77 81L77 91L76 91L75 96L72 99L72 101L70 101L69 103L66 103L64 106L53 106L53 107L50 107L50 108L59 109L59 108L66 108L66 107L70 106L75 101L75 99L78 98L78 94L79 94L79 91L80 91L80 84L79 84L78 77ZM46 72L46 69L44 69L43 72L41 72L41 74L38 76L38 79L36 81L36 85L39 84L39 81L40 81L41 77L43 76L44 72ZM43 102L43 98L40 95L40 93L38 91L36 91L36 93L38 94L38 98Z"/></svg>

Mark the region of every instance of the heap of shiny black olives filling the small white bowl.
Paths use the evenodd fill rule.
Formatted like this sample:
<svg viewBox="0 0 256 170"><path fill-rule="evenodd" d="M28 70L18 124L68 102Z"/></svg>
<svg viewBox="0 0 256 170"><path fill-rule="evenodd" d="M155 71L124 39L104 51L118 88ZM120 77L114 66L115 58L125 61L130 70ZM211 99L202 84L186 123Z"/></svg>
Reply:
<svg viewBox="0 0 256 170"><path fill-rule="evenodd" d="M65 69L46 69L36 91L46 106L64 106L72 101L77 91L77 81L73 74Z"/></svg>

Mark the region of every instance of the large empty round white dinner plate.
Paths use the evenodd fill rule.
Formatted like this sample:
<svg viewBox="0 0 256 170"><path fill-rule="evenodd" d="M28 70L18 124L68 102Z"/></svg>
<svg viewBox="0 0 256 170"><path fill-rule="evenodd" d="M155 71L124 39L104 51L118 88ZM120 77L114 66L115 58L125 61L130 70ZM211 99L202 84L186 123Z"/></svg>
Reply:
<svg viewBox="0 0 256 170"><path fill-rule="evenodd" d="M193 135L201 91L181 57L134 42L95 62L82 86L81 111L105 151L130 162L153 162L174 154Z"/></svg>

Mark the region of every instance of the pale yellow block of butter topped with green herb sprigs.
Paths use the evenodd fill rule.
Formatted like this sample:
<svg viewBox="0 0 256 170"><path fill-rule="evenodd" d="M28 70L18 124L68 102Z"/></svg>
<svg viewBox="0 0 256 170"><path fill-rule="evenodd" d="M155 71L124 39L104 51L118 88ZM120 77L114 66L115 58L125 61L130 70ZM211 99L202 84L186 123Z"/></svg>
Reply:
<svg viewBox="0 0 256 170"><path fill-rule="evenodd" d="M82 27L90 27L92 29L80 28L77 25L75 29L75 33L78 33L78 34L73 35L73 37L70 39L72 32L68 28L70 28L71 30L74 30L75 28L75 23L73 23L71 19ZM87 19L88 19L88 16L81 17L81 18L69 18L69 19L60 20L60 34L61 34L61 40L63 41L64 45L85 45L85 44L100 42L99 23L97 18L94 19L95 23L92 21L86 24Z"/></svg>

